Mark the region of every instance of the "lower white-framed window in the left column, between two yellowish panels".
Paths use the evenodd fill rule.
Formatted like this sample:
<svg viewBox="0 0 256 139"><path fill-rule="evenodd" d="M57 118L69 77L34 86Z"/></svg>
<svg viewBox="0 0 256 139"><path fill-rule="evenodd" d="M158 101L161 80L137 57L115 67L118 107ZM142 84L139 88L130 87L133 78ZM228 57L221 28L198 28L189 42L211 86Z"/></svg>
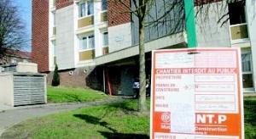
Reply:
<svg viewBox="0 0 256 139"><path fill-rule="evenodd" d="M94 35L79 36L79 51L85 51L88 49L94 49Z"/></svg>

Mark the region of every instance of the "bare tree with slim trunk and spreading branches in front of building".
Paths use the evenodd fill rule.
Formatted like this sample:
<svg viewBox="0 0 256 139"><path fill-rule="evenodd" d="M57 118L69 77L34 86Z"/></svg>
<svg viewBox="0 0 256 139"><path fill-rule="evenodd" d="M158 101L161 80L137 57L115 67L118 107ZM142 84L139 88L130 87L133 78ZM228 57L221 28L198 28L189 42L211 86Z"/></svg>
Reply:
<svg viewBox="0 0 256 139"><path fill-rule="evenodd" d="M140 112L145 112L148 110L146 105L146 71L145 71L145 27L155 27L160 24L166 24L166 22L171 22L172 19L166 19L166 16L169 16L172 10L177 10L177 16L182 16L181 20L177 20L175 22L176 27L173 27L170 34L177 29L177 26L183 26L183 0L172 0L166 3L166 0L159 0L160 3L163 4L163 8L160 10L164 10L163 14L158 16L156 19L151 16L150 11L155 6L156 3L159 3L158 0L131 0L131 3L125 3L127 0L113 0L115 3L121 3L127 8L127 11L112 11L119 13L131 13L137 17L138 23L138 46L139 46L139 82L140 82L140 90L139 90L139 101L138 101L138 110ZM148 21L148 19L150 21Z"/></svg>

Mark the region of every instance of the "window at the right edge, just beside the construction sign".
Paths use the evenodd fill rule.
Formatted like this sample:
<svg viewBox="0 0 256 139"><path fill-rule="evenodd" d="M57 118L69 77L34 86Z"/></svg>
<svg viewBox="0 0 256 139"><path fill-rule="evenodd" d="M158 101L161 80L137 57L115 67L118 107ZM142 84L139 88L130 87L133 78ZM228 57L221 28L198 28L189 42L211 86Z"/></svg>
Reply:
<svg viewBox="0 0 256 139"><path fill-rule="evenodd" d="M241 53L242 84L244 88L253 87L252 53Z"/></svg>

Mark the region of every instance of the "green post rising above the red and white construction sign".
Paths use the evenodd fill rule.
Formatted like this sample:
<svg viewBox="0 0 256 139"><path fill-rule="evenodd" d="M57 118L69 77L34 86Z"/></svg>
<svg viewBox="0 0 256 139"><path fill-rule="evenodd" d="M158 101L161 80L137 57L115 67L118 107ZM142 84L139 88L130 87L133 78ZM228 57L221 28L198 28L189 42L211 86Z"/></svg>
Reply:
<svg viewBox="0 0 256 139"><path fill-rule="evenodd" d="M188 35L188 46L197 47L196 31L195 31L195 10L194 0L184 0L186 30Z"/></svg>

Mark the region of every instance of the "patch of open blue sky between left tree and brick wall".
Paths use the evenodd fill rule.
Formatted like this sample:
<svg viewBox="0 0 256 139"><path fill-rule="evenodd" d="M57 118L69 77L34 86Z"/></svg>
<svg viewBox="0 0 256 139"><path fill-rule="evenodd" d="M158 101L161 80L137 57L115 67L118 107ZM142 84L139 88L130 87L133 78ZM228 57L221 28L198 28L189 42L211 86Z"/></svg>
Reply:
<svg viewBox="0 0 256 139"><path fill-rule="evenodd" d="M28 46L25 47L25 51L31 51L31 35L32 35L32 0L14 0L15 5L18 6L21 19L26 25L26 34L28 35Z"/></svg>

